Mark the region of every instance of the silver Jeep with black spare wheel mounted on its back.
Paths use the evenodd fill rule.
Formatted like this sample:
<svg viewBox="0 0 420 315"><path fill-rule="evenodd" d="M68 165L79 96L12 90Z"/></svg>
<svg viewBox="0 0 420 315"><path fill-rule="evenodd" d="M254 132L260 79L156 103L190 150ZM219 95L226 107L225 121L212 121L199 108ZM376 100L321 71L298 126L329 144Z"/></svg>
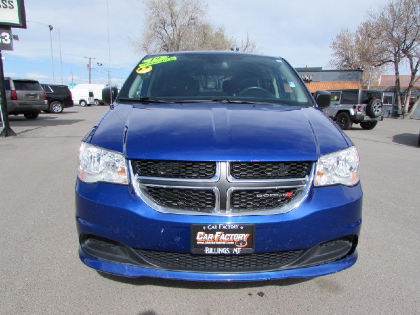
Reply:
<svg viewBox="0 0 420 315"><path fill-rule="evenodd" d="M323 109L341 129L360 123L362 129L375 128L383 120L382 92L367 89L330 90L331 105Z"/></svg>

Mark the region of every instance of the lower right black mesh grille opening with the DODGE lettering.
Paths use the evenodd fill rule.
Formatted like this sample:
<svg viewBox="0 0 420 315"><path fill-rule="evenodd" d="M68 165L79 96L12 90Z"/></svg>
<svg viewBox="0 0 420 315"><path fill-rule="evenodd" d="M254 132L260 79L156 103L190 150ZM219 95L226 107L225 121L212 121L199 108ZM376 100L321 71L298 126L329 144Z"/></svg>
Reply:
<svg viewBox="0 0 420 315"><path fill-rule="evenodd" d="M230 199L231 210L242 212L275 209L288 204L298 194L296 188L234 190Z"/></svg>

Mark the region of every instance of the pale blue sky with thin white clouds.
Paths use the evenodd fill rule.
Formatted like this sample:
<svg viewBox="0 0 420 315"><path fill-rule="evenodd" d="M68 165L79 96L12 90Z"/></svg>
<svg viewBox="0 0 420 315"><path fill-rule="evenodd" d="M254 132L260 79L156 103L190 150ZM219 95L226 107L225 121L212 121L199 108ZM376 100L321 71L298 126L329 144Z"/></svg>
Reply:
<svg viewBox="0 0 420 315"><path fill-rule="evenodd" d="M88 82L87 63L92 60L92 83L120 86L143 57L134 52L130 39L142 34L146 17L142 0L25 0L27 29L13 29L19 36L14 51L3 52L5 76L53 83L50 31L55 83ZM203 0L204 2L204 0ZM342 28L354 31L366 12L386 0L208 0L208 18L239 39L247 33L259 52L286 58L294 67L324 68L331 58L329 45ZM61 39L61 41L59 41ZM60 67L60 42L63 76ZM110 59L110 60L109 60ZM102 67L97 63L102 63Z"/></svg>

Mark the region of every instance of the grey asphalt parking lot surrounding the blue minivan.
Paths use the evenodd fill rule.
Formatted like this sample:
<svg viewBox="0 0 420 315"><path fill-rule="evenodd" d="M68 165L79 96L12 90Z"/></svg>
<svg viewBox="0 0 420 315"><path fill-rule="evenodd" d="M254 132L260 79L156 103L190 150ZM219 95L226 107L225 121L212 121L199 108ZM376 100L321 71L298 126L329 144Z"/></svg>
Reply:
<svg viewBox="0 0 420 315"><path fill-rule="evenodd" d="M196 283L104 276L82 264L76 152L105 106L35 121L0 138L1 314L419 314L420 121L346 133L365 193L356 265L310 280Z"/></svg>

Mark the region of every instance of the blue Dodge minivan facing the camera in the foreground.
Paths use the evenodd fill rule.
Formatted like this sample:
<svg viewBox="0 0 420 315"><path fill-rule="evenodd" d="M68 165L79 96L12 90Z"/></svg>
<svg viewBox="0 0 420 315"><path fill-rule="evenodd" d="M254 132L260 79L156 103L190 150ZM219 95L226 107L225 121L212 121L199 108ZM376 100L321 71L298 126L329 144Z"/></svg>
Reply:
<svg viewBox="0 0 420 315"><path fill-rule="evenodd" d="M352 141L280 57L149 55L81 142L79 257L196 281L315 277L357 260Z"/></svg>

